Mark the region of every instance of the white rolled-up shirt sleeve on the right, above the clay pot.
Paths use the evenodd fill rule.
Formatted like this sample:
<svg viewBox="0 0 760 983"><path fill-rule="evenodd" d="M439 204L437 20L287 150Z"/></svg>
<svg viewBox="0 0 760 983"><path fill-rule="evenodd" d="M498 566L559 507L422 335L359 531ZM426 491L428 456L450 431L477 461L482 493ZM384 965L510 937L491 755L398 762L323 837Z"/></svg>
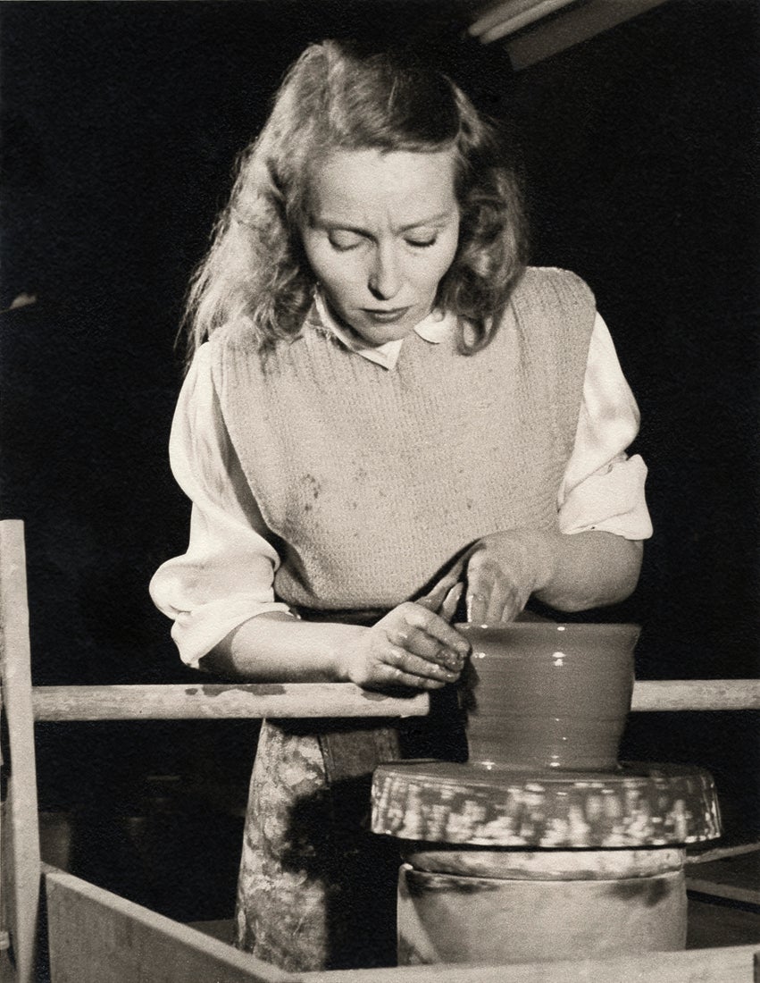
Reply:
<svg viewBox="0 0 760 983"><path fill-rule="evenodd" d="M600 530L628 540L652 535L644 484L647 469L626 448L638 433L636 401L613 340L597 315L591 335L575 442L558 493L563 533Z"/></svg>

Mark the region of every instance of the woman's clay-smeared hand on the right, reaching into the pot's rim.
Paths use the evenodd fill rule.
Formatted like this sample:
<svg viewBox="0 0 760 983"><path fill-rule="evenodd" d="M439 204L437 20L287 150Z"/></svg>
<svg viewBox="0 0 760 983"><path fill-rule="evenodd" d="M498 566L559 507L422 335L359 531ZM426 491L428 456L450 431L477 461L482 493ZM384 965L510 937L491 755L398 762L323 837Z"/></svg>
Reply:
<svg viewBox="0 0 760 983"><path fill-rule="evenodd" d="M461 559L467 620L514 620L530 595L545 585L550 565L551 550L540 533L509 530L484 536Z"/></svg>

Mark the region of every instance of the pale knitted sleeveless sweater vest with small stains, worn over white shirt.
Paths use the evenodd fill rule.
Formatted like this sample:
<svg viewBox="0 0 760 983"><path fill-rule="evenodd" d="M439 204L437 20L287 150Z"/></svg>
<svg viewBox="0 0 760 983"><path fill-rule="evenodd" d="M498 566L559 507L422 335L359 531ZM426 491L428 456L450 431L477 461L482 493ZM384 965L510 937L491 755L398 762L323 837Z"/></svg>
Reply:
<svg viewBox="0 0 760 983"><path fill-rule="evenodd" d="M262 361L244 324L212 338L233 446L282 562L278 598L390 608L498 530L556 530L595 315L574 274L529 268L474 355L407 336L395 370L315 317Z"/></svg>

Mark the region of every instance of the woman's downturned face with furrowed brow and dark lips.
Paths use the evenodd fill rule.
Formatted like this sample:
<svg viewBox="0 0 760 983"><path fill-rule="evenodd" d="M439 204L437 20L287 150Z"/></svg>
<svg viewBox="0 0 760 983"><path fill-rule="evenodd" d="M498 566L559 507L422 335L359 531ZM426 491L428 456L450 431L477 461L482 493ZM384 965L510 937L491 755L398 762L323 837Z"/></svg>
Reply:
<svg viewBox="0 0 760 983"><path fill-rule="evenodd" d="M454 260L454 152L337 150L315 168L300 228L332 309L370 345L426 318Z"/></svg>

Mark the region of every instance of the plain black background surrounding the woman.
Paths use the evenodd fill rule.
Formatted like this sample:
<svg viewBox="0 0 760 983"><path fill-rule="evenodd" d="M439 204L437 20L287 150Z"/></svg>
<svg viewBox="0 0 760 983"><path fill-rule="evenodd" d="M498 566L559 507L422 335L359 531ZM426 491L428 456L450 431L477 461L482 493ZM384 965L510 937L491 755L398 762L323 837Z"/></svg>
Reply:
<svg viewBox="0 0 760 983"><path fill-rule="evenodd" d="M517 74L464 24L402 0L0 4L0 308L37 297L0 316L0 504L27 524L35 684L196 678L147 596L188 535L167 461L183 296L285 68L352 35L412 43L509 121L533 260L582 275L611 327L655 537L600 616L642 624L640 678L758 674L757 7L671 0ZM727 838L757 836L756 723L637 715L624 754L709 767ZM76 872L227 914L255 732L39 724L40 801L73 817Z"/></svg>

